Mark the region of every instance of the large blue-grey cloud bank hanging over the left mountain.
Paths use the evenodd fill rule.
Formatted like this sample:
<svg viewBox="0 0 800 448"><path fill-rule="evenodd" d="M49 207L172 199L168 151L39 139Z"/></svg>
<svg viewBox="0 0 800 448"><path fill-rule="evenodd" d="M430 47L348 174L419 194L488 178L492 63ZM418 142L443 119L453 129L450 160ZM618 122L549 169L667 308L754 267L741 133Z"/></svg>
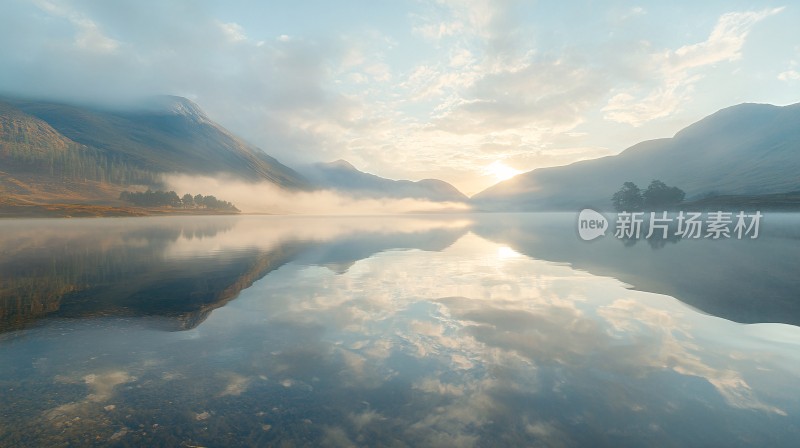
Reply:
<svg viewBox="0 0 800 448"><path fill-rule="evenodd" d="M338 38L256 40L202 3L111 8L42 0L12 4L4 16L0 35L23 42L0 48L7 94L112 105L186 96L289 163L327 159L341 151L345 131L360 126L359 98L334 85L335 68L348 56ZM366 71L391 79L385 64Z"/></svg>

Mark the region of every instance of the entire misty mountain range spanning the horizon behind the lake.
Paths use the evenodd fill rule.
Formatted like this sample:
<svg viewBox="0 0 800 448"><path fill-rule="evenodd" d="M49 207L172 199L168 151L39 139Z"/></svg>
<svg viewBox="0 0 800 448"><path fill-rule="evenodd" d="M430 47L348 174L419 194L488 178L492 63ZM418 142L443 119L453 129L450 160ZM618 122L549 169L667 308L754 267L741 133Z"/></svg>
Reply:
<svg viewBox="0 0 800 448"><path fill-rule="evenodd" d="M683 189L687 199L800 191L800 104L732 106L672 138L533 170L471 199L442 180L387 179L341 159L294 170L215 123L191 100L168 95L118 109L0 98L0 163L0 192L26 200L66 192L102 201L119 194L108 185L155 186L164 174L177 173L362 199L469 202L483 211L609 209L626 181L646 187L660 179Z"/></svg>

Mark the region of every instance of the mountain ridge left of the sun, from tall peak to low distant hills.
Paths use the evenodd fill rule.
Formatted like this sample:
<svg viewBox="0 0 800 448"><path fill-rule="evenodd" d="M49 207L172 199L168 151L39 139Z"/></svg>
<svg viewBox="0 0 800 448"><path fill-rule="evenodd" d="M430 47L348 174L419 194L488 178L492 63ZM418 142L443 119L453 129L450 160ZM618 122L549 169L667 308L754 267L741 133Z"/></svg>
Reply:
<svg viewBox="0 0 800 448"><path fill-rule="evenodd" d="M307 176L178 96L116 106L0 97L0 202L7 205L120 206L121 191L161 189L169 174L222 176L287 191L327 189L355 198L468 200L441 180L385 179L344 160L304 168Z"/></svg>

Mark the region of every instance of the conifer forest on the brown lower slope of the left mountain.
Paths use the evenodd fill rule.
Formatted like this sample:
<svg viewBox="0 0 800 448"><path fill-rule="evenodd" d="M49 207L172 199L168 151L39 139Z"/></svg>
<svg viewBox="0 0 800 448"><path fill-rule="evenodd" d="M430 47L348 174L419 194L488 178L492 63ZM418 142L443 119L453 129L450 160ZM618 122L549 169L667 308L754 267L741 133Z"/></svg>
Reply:
<svg viewBox="0 0 800 448"><path fill-rule="evenodd" d="M0 142L0 156L27 171L49 173L69 180L109 182L118 185L150 185L158 174L131 164L122 156L98 149L69 144L66 148Z"/></svg>

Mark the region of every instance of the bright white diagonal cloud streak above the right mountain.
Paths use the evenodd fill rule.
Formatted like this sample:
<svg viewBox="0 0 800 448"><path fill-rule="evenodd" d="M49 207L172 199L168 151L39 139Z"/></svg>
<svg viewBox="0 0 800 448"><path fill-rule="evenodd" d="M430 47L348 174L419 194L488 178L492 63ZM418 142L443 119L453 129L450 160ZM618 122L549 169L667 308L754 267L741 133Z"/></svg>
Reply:
<svg viewBox="0 0 800 448"><path fill-rule="evenodd" d="M649 91L642 86L617 89L602 109L604 117L639 126L673 114L691 100L694 84L702 79L698 69L741 59L753 26L783 9L723 14L705 41L650 54L646 70L658 84Z"/></svg>

